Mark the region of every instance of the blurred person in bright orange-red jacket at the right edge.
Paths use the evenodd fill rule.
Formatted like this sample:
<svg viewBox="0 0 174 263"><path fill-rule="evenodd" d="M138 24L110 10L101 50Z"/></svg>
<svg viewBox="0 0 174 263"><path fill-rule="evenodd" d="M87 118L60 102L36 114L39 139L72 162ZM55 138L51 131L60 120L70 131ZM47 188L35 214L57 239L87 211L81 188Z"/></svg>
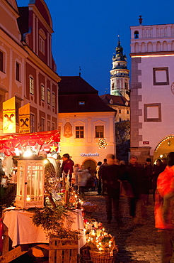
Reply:
<svg viewBox="0 0 174 263"><path fill-rule="evenodd" d="M156 188L155 226L161 233L161 263L170 263L174 240L174 152L167 158L166 169L159 174Z"/></svg>

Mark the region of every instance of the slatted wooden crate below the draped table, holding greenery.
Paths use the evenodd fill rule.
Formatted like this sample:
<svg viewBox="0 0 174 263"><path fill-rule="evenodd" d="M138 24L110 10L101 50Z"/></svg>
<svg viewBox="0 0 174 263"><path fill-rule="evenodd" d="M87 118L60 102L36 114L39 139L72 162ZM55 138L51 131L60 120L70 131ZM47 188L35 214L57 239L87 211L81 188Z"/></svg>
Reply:
<svg viewBox="0 0 174 263"><path fill-rule="evenodd" d="M78 240L52 237L49 244L49 263L77 263Z"/></svg>

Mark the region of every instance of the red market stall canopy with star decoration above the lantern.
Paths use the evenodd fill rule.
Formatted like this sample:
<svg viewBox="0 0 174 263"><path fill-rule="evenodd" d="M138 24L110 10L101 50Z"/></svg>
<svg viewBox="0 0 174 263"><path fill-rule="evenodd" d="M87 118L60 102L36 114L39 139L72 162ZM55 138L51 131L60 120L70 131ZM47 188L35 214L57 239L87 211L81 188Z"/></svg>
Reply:
<svg viewBox="0 0 174 263"><path fill-rule="evenodd" d="M60 141L59 131L33 132L28 134L8 134L0 136L0 152L7 156L16 155L16 149L40 146L40 151L57 151ZM53 148L52 148L53 147Z"/></svg>

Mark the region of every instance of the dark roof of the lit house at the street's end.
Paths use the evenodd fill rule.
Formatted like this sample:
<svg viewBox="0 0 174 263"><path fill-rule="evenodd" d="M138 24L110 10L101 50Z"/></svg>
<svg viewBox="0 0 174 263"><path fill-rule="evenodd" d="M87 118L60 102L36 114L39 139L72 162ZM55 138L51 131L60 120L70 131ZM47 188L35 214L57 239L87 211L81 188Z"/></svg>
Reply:
<svg viewBox="0 0 174 263"><path fill-rule="evenodd" d="M59 113L116 112L98 96L98 91L82 77L61 77L59 82ZM83 102L79 104L79 102Z"/></svg>

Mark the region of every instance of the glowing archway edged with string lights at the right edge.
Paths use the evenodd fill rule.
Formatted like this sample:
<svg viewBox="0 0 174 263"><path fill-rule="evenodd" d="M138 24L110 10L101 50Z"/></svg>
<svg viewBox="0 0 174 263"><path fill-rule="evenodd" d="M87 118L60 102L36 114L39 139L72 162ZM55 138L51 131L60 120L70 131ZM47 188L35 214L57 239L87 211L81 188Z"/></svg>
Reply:
<svg viewBox="0 0 174 263"><path fill-rule="evenodd" d="M170 151L174 151L174 135L168 135L159 142L153 154L153 162L166 158Z"/></svg>

